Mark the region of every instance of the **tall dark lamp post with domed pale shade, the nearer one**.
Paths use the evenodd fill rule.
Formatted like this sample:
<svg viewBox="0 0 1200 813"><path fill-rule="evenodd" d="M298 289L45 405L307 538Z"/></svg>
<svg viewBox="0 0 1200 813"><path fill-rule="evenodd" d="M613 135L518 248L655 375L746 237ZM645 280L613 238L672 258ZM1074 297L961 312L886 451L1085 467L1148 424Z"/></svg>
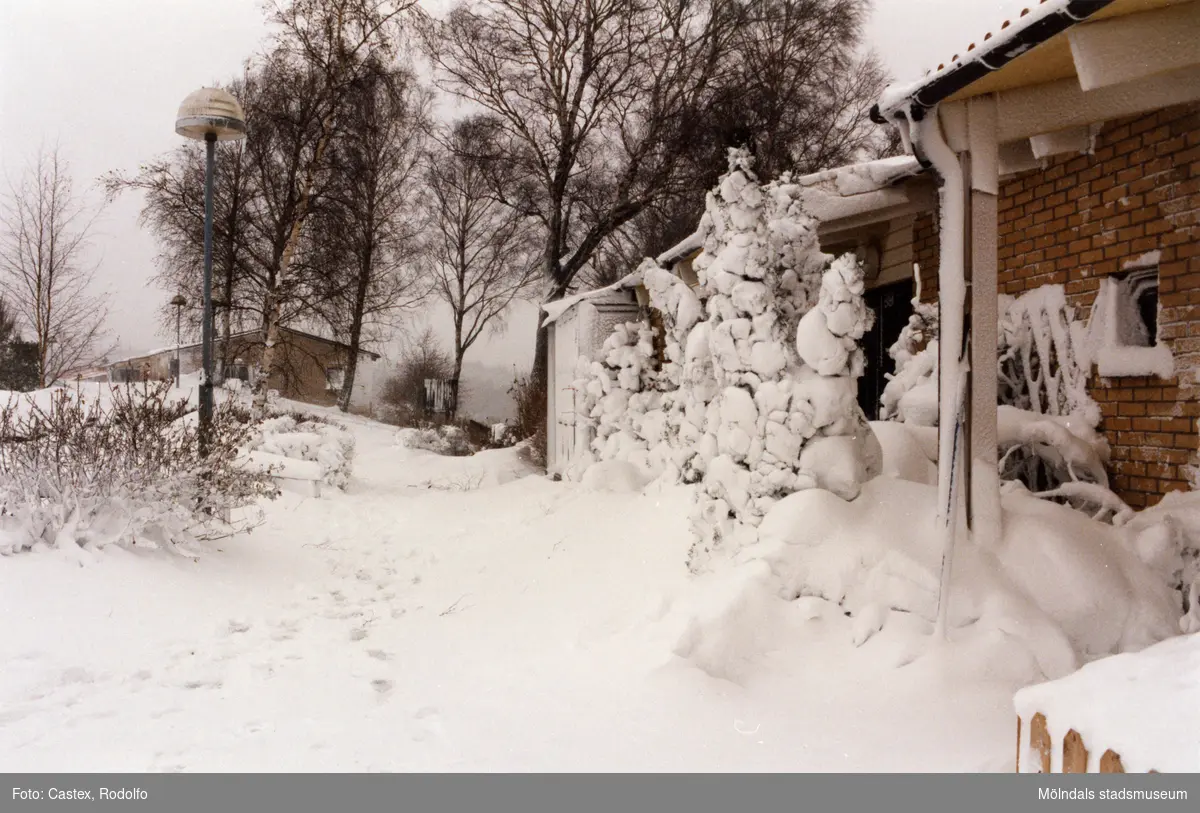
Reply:
<svg viewBox="0 0 1200 813"><path fill-rule="evenodd" d="M204 315L200 321L200 452L206 453L212 432L212 165L217 141L246 137L246 116L230 94L202 88L179 106L175 132L203 140L204 164Z"/></svg>

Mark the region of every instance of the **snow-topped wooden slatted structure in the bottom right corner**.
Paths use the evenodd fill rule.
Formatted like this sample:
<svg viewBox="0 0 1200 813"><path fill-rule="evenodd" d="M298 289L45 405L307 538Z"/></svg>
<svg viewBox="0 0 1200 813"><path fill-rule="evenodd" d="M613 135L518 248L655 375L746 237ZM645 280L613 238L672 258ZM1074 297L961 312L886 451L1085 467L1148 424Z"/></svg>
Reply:
<svg viewBox="0 0 1200 813"><path fill-rule="evenodd" d="M1088 663L1016 693L1016 770L1200 771L1200 634ZM1028 731L1027 746L1022 730Z"/></svg>

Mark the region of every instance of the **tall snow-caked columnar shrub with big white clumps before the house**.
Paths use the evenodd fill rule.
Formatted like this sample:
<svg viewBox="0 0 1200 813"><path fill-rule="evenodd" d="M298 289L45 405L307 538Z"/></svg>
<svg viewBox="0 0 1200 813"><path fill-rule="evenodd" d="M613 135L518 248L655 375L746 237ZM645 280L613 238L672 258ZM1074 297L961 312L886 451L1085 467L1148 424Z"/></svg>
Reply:
<svg viewBox="0 0 1200 813"><path fill-rule="evenodd" d="M874 318L862 269L847 254L822 275L830 258L799 187L786 176L760 185L751 163L731 150L730 171L708 195L695 263L708 318L692 329L685 357L695 336L715 395L692 464L703 472L694 567L751 540L787 494L828 488L852 499L880 465L857 402L858 341Z"/></svg>

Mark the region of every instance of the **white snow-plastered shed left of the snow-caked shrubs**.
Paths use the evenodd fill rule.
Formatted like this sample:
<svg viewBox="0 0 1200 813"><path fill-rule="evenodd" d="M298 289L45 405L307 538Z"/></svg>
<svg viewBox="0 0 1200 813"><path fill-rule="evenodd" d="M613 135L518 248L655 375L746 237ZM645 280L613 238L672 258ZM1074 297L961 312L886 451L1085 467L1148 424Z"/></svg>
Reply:
<svg viewBox="0 0 1200 813"><path fill-rule="evenodd" d="M577 421L576 369L592 359L613 327L637 318L637 287L630 275L612 285L584 291L542 306L547 329L546 470L562 474L590 442L586 421Z"/></svg>

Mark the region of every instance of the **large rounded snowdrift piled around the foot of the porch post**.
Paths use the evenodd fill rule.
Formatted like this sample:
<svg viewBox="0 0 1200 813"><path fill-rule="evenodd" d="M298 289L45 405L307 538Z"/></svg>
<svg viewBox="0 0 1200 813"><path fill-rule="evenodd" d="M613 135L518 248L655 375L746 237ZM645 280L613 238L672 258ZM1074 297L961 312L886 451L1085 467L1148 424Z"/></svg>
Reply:
<svg viewBox="0 0 1200 813"><path fill-rule="evenodd" d="M865 644L898 614L932 628L941 549L932 532L936 488L877 477L853 501L824 490L785 498L701 597L676 652L719 676L739 674L764 648L767 627L800 597L853 616ZM980 636L1028 663L1026 682L1058 678L1081 662L1133 651L1175 634L1175 594L1111 525L1027 494L1004 498L996 550L955 553L950 646ZM748 636L749 631L758 631Z"/></svg>

